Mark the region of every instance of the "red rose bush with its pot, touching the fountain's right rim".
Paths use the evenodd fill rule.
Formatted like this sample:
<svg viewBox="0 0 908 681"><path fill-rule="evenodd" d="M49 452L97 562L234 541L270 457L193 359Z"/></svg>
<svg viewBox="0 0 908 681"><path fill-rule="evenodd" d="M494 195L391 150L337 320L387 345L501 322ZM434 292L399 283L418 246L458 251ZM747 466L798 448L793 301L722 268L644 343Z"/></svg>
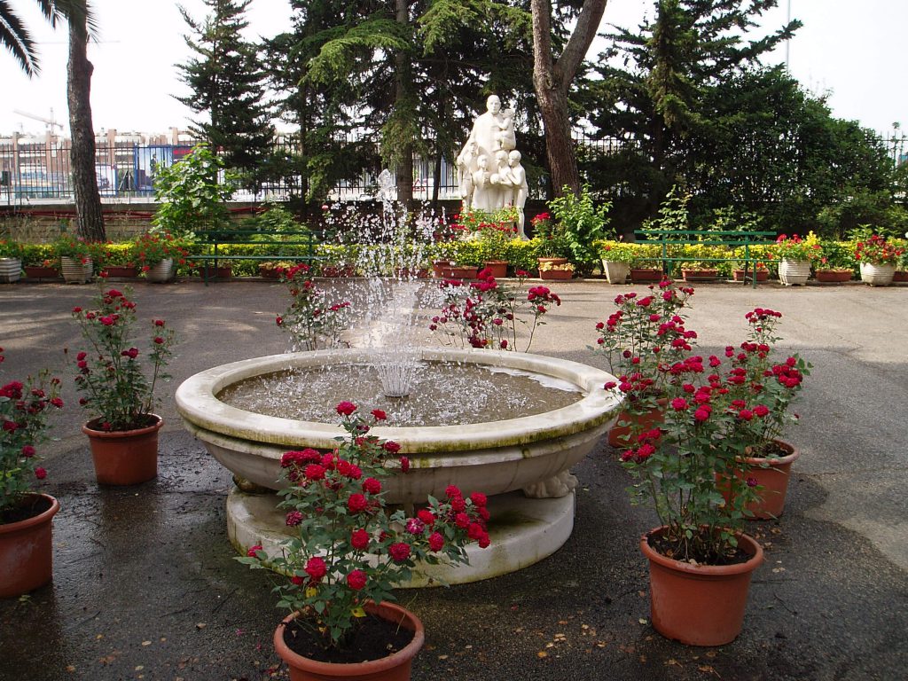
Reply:
<svg viewBox="0 0 908 681"><path fill-rule="evenodd" d="M651 284L649 293L636 291L615 298L617 311L596 325L597 344L591 348L606 358L624 394L624 408L608 431L608 444L625 447L632 432L650 429L662 421L668 400L669 374L659 370L688 346L683 311L694 295L689 287L676 288L669 280Z"/></svg>

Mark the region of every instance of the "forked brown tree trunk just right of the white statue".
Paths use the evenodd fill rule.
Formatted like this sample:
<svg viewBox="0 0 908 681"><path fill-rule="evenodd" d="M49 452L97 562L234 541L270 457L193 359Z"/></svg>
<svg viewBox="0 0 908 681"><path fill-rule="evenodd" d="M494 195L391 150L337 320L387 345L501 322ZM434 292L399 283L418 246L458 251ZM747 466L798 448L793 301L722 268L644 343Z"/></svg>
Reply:
<svg viewBox="0 0 908 681"><path fill-rule="evenodd" d="M580 193L577 154L568 117L568 89L596 36L606 3L607 0L584 1L574 33L556 61L552 54L549 0L530 0L533 13L533 89L546 129L546 155L551 182L559 196L564 187L575 194Z"/></svg>

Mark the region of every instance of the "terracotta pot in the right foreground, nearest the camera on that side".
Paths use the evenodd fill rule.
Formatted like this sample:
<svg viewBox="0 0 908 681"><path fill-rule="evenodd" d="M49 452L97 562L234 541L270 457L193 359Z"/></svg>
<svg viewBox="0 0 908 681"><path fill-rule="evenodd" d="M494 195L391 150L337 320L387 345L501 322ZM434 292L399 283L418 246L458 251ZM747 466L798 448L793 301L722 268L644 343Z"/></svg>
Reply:
<svg viewBox="0 0 908 681"><path fill-rule="evenodd" d="M640 538L649 560L649 602L653 627L666 638L689 646L723 646L741 633L747 592L754 570L763 562L763 548L747 535L738 546L751 558L735 565L691 565L666 558Z"/></svg>

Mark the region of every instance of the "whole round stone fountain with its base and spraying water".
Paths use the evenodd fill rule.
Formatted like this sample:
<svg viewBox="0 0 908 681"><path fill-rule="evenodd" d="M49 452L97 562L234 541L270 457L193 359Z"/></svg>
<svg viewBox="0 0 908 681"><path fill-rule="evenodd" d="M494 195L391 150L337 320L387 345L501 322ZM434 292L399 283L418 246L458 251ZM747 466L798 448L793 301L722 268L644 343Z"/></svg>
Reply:
<svg viewBox="0 0 908 681"><path fill-rule="evenodd" d="M495 114L498 111L490 115ZM384 211L381 220L389 222L388 213ZM411 233L404 222L398 222L402 229L396 233ZM428 239L434 222L428 220L423 225L422 232ZM400 246L396 234L384 242ZM409 245L407 252L419 253L418 245ZM360 262L360 271L368 271L375 264L375 269L383 272L418 270L417 262L397 262L403 251L390 249L377 257L380 247L364 250L370 262ZM406 305L400 301L415 301L417 282L399 278L389 285L387 279L366 277L359 283L362 291L380 297L363 305L364 310L397 310L399 319L414 319L412 311L401 309ZM280 544L287 538L286 526L283 512L276 508L279 499L273 490L281 487L281 454L307 447L333 449L343 429L340 419L332 418L331 413L319 419L282 415L281 411L275 415L257 407L237 406L225 396L245 381L267 379L281 372L310 371L328 376L331 382L333 371L352 366L371 368L383 380L394 379L394 386L386 387L383 396L393 396L393 400L390 405L375 404L363 400L377 400L376 397L346 393L341 400L360 405L366 413L380 407L389 412L389 423L393 422L397 407L423 409L421 419L417 411L417 425L386 425L372 430L382 439L399 443L400 454L410 459L409 472L399 473L386 483L388 501L412 507L425 502L429 495L443 497L451 484L468 493L480 491L489 495L491 546L469 548L469 566L425 566L408 586L495 577L526 568L554 553L568 540L574 524L577 479L570 468L595 447L617 420L620 400L603 388L614 377L577 362L528 353L412 344L404 341L407 334L401 327L406 324L394 326L392 321L386 328L389 317L383 314L380 320L357 324L358 341L366 347L291 352L233 362L192 376L176 391L177 409L186 428L238 481L238 488L230 492L227 500L228 534L234 546L242 553L255 544L261 544L269 554L280 552ZM392 343L382 344L382 337L392 339ZM521 380L529 380L535 386L531 391L536 395L536 406L528 410L515 408L515 413L491 418L483 418L486 412L480 410L479 418L460 419L429 413L437 408L415 395L408 403L405 396L409 389L403 383L414 372L419 372L429 387L443 384L438 385L439 390L449 388L452 392L446 400L468 400L469 385L451 388L449 380L441 378L449 376L441 368L450 371L452 366L456 373L459 368L487 372L495 382L515 374ZM341 382L346 388L345 380L333 382ZM309 400L319 392L307 390L304 383L302 390L288 400ZM287 393L281 391L283 394ZM337 401L340 400L333 404ZM436 425L425 425L429 421Z"/></svg>

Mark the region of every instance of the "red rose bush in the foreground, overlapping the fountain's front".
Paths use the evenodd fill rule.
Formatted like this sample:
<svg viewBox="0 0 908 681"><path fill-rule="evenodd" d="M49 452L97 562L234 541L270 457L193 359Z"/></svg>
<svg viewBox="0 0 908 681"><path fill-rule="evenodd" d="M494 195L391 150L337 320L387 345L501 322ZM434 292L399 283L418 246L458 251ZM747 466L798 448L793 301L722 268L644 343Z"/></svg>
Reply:
<svg viewBox="0 0 908 681"><path fill-rule="evenodd" d="M346 437L337 449L289 451L281 458L281 508L293 538L281 555L269 557L261 546L237 558L252 568L273 568L290 577L274 588L278 607L299 612L305 627L323 649L350 645L366 617L363 604L393 600L391 587L410 579L417 561L437 565L468 562L470 541L489 546L486 496L465 497L450 485L445 500L429 497L412 516L387 508L382 480L391 469L406 473L409 461L398 459L400 445L370 435L370 426L385 419L371 412L371 423L341 402ZM397 460L395 460L397 459Z"/></svg>

